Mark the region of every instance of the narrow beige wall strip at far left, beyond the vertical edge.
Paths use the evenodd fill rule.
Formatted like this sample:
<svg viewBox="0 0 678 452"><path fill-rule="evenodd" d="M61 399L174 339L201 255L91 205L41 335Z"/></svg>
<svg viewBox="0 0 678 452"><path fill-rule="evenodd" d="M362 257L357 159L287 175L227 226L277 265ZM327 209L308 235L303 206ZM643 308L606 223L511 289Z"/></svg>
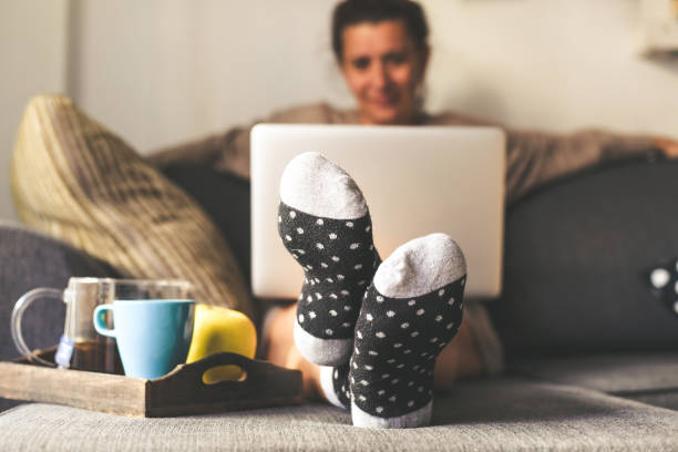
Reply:
<svg viewBox="0 0 678 452"><path fill-rule="evenodd" d="M27 100L63 92L68 0L0 2L0 219L16 219L9 189L11 150Z"/></svg>

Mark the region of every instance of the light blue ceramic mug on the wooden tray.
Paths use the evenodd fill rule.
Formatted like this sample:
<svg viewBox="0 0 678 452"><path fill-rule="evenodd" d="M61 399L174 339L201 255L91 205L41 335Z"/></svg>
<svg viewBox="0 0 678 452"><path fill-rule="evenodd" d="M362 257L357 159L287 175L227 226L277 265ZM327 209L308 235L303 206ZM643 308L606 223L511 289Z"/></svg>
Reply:
<svg viewBox="0 0 678 452"><path fill-rule="evenodd" d="M112 311L113 329L105 314ZM194 300L114 300L94 309L96 332L115 338L125 376L154 379L186 362Z"/></svg>

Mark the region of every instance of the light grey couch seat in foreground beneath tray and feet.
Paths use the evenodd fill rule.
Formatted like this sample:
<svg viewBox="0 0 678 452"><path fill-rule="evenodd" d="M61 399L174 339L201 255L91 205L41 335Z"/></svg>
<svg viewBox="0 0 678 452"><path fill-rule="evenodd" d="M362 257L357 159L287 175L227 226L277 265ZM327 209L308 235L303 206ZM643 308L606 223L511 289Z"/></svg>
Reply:
<svg viewBox="0 0 678 452"><path fill-rule="evenodd" d="M434 425L364 430L326 404L176 419L129 419L28 404L0 414L0 450L675 450L678 413L523 379L462 382Z"/></svg>

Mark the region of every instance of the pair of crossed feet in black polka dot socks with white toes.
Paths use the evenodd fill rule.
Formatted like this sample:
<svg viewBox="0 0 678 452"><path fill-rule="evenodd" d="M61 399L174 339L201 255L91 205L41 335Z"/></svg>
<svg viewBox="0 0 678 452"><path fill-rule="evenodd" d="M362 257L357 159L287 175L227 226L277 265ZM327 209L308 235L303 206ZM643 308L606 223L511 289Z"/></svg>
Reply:
<svg viewBox="0 0 678 452"><path fill-rule="evenodd" d="M325 397L357 427L429 424L435 360L462 319L459 246L432 234L382 263L360 188L318 153L285 168L278 229L305 271L295 343L321 366Z"/></svg>

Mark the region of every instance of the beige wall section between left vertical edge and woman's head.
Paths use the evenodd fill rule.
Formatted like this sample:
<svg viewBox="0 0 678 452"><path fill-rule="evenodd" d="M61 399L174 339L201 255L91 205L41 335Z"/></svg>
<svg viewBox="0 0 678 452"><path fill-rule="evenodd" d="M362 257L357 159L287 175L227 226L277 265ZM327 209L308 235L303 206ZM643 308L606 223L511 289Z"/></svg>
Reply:
<svg viewBox="0 0 678 452"><path fill-rule="evenodd" d="M343 92L328 52L333 0L78 4L73 94L143 151Z"/></svg>

